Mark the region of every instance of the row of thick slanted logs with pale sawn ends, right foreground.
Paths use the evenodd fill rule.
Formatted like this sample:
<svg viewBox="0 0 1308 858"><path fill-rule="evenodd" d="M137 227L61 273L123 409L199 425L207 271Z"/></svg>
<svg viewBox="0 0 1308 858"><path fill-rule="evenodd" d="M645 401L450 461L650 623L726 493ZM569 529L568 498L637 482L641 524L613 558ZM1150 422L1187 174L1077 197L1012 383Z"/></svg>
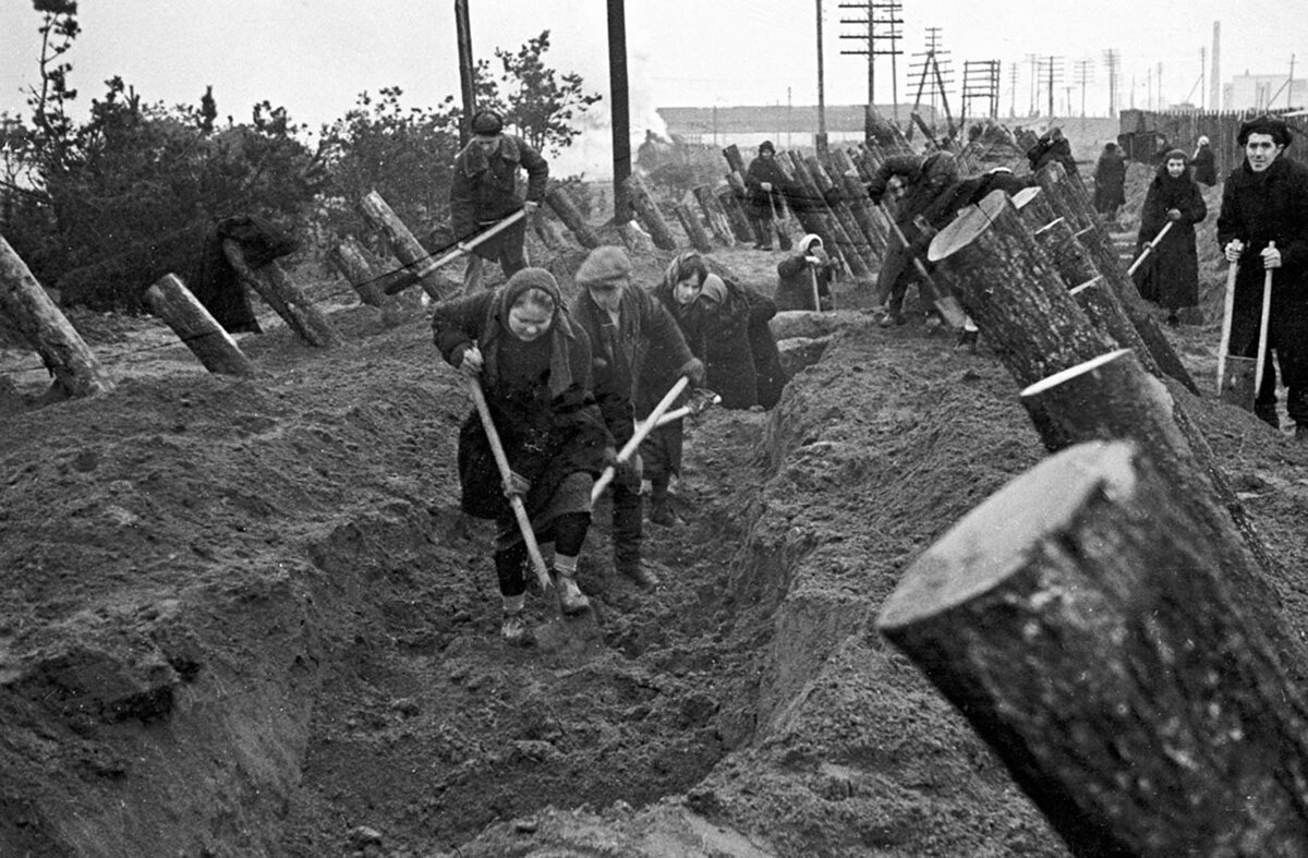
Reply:
<svg viewBox="0 0 1308 858"><path fill-rule="evenodd" d="M1308 854L1308 650L1283 570L1160 381L1083 188L1037 178L929 258L1054 455L923 552L878 629L1074 854Z"/></svg>

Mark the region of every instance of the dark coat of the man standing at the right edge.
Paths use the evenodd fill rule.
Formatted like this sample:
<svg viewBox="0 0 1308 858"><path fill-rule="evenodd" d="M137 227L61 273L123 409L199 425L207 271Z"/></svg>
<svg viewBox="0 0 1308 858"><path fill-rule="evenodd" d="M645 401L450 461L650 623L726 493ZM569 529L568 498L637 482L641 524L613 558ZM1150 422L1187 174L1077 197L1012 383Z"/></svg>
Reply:
<svg viewBox="0 0 1308 858"><path fill-rule="evenodd" d="M1279 156L1262 173L1244 161L1222 188L1218 246L1244 242L1236 275L1236 314L1261 314L1264 267L1261 252L1277 242L1281 267L1273 275L1273 339L1281 320L1308 318L1308 166Z"/></svg>

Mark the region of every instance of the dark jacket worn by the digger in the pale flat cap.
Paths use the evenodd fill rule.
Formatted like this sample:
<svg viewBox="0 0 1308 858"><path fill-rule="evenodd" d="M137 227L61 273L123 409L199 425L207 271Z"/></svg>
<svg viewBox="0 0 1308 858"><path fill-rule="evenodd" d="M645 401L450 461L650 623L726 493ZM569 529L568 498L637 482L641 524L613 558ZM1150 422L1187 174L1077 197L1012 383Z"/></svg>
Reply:
<svg viewBox="0 0 1308 858"><path fill-rule="evenodd" d="M636 403L641 416L653 411L693 354L672 314L634 285L623 290L616 331L608 311L585 289L573 300L573 318L590 337L595 398L621 446L634 433Z"/></svg>

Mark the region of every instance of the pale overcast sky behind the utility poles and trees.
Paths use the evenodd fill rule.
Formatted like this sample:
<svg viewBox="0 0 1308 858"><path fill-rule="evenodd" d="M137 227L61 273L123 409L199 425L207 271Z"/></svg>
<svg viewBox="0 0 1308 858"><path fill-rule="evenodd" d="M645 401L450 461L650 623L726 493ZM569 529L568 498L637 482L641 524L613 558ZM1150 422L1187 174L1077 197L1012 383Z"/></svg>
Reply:
<svg viewBox="0 0 1308 858"><path fill-rule="evenodd" d="M545 55L560 72L578 72L604 95L607 124L607 4L603 0L470 0L473 52L494 63L494 48L515 50L551 31ZM1213 24L1220 21L1220 72L1308 78L1305 0L903 0L897 59L900 101L912 102L913 65L938 38L961 82L965 60L1001 60L1001 114L1031 106L1031 56L1061 68L1056 107L1108 112L1104 52L1120 56L1118 106L1207 99L1199 86L1201 47L1211 68ZM199 103L212 84L220 116L249 120L260 101L285 106L317 129L353 106L358 93L400 86L404 103L428 107L459 93L454 0L82 0L72 85L81 115L119 75L146 102ZM865 18L853 0L823 0L823 65L828 105L867 99ZM662 106L815 105L816 0L627 0L627 48L633 133L658 127ZM1257 13L1256 18L1253 13ZM883 17L884 13L879 13ZM24 89L38 81L41 17L30 0L0 0L0 111L27 115ZM884 31L886 27L879 27ZM842 38L846 37L846 38ZM862 37L859 38L853 37ZM1291 58L1299 52L1292 60ZM1016 86L1012 69L1016 67ZM891 99L889 58L878 58L876 101ZM1133 90L1134 84L1134 90ZM1067 89L1071 88L1071 93ZM1134 95L1133 95L1134 92ZM951 99L954 94L951 94ZM1041 106L1046 97L1041 97ZM587 173L607 171L599 140L573 156ZM565 171L576 171L565 170Z"/></svg>

